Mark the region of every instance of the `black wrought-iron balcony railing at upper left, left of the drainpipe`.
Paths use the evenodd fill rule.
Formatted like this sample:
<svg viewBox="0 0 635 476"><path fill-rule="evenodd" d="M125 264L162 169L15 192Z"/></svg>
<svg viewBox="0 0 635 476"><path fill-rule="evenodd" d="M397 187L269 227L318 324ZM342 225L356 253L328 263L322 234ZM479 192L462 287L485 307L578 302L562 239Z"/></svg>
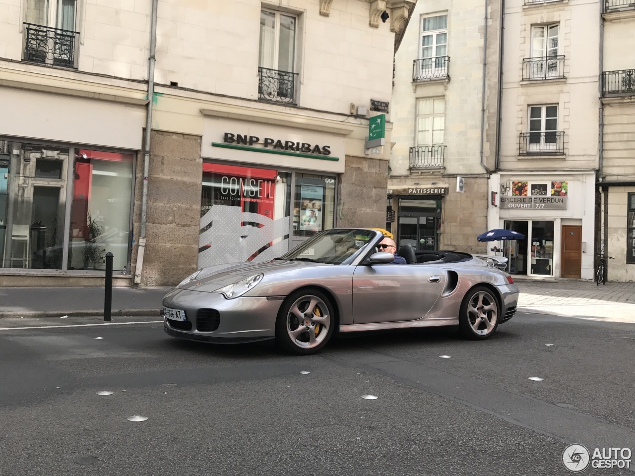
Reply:
<svg viewBox="0 0 635 476"><path fill-rule="evenodd" d="M75 67L79 33L59 28L24 23L23 60L53 66Z"/></svg>

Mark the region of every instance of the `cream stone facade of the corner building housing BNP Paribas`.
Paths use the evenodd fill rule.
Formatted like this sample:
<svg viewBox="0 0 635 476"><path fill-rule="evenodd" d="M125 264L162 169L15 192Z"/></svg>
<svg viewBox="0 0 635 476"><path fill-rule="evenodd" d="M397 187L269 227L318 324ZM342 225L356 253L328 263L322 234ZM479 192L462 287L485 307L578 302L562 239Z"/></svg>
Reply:
<svg viewBox="0 0 635 476"><path fill-rule="evenodd" d="M365 139L414 3L0 0L1 283L101 284L111 252L171 285L384 223Z"/></svg>

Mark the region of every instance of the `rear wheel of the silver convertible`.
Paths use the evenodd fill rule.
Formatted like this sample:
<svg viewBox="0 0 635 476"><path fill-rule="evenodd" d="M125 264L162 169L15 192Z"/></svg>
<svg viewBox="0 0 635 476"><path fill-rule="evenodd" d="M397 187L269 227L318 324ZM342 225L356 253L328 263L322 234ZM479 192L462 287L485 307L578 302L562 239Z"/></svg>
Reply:
<svg viewBox="0 0 635 476"><path fill-rule="evenodd" d="M500 306L493 291L486 286L470 289L461 303L458 325L468 339L482 340L498 327Z"/></svg>

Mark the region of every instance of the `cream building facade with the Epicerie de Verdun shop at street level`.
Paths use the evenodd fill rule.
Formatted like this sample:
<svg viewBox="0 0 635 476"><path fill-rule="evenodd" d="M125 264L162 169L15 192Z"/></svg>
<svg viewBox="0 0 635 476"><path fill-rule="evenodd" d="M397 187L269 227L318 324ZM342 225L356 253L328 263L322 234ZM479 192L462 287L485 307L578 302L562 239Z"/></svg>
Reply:
<svg viewBox="0 0 635 476"><path fill-rule="evenodd" d="M525 235L501 247L512 274L594 276L599 11L599 1L505 2L488 228Z"/></svg>

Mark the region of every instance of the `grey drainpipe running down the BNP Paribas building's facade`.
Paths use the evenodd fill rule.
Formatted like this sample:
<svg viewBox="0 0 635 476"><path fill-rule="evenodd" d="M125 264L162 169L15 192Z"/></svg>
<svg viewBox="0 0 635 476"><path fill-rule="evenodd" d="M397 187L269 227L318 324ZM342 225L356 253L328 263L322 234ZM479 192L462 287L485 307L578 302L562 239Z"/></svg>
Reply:
<svg viewBox="0 0 635 476"><path fill-rule="evenodd" d="M152 100L154 99L154 63L157 49L157 6L159 0L152 0L152 19L150 20L150 57L148 61L148 106L145 117L144 131L144 189L141 197L141 230L139 233L139 247L137 266L135 267L135 284L141 282L141 272L144 268L145 253L145 224L148 211L148 175L150 173L150 133L152 132Z"/></svg>

